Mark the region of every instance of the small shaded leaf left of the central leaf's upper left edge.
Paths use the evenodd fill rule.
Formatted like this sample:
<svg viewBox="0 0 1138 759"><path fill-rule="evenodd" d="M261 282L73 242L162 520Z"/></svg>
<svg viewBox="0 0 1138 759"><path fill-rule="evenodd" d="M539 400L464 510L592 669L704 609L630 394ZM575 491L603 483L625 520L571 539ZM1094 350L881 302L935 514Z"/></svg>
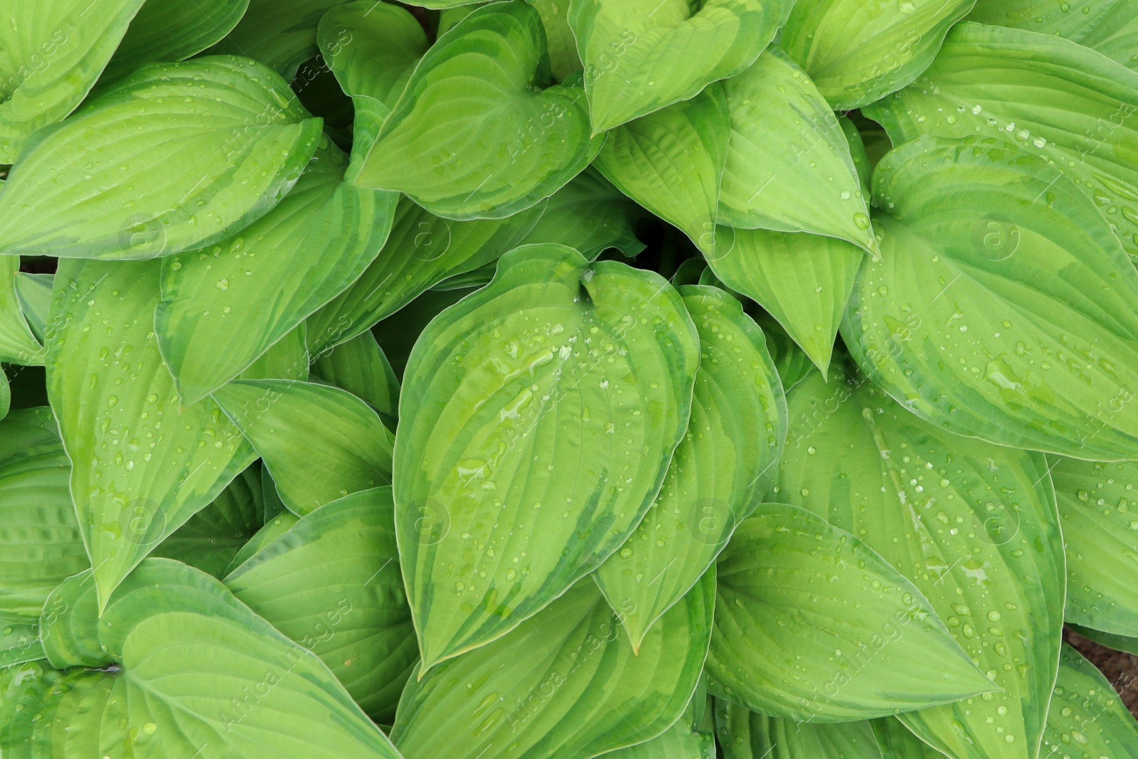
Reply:
<svg viewBox="0 0 1138 759"><path fill-rule="evenodd" d="M320 379L366 401L388 429L399 415L399 380L376 337L363 332L329 348L312 363Z"/></svg>

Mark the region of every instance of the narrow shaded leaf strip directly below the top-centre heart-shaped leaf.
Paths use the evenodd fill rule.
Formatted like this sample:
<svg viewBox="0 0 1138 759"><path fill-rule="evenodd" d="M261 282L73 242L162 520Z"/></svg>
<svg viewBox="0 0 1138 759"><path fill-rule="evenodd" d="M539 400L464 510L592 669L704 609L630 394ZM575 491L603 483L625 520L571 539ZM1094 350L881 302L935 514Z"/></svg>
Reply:
<svg viewBox="0 0 1138 759"><path fill-rule="evenodd" d="M520 245L543 208L538 203L508 218L456 222L401 199L384 249L355 282L308 319L310 352L320 354L363 333L432 284Z"/></svg>

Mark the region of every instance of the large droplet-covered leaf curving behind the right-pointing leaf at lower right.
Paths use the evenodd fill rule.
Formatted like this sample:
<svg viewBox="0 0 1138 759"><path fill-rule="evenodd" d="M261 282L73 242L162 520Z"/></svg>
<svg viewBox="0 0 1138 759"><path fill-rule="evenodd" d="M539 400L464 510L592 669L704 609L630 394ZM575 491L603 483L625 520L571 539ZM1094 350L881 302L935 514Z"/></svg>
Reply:
<svg viewBox="0 0 1138 759"><path fill-rule="evenodd" d="M859 536L910 579L1003 688L901 720L958 759L1034 759L1065 579L1044 457L947 432L864 377L827 383L815 373L787 405L782 495Z"/></svg>

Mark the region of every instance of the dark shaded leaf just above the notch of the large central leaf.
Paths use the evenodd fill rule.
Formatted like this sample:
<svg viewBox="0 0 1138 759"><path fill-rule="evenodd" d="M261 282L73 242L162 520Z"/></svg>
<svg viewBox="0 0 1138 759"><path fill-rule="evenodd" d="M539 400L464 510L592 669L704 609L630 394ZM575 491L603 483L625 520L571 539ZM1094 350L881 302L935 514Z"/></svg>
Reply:
<svg viewBox="0 0 1138 759"><path fill-rule="evenodd" d="M553 193L542 217L519 245L568 245L589 261L608 248L632 257L644 249L635 228L645 216L648 212L589 167Z"/></svg>

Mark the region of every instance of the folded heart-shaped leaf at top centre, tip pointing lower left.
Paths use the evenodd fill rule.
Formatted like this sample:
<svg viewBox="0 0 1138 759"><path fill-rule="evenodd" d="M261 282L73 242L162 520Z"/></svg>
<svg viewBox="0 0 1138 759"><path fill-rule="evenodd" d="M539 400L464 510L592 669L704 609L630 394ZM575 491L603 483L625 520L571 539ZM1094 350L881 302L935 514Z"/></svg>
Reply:
<svg viewBox="0 0 1138 759"><path fill-rule="evenodd" d="M360 182L455 220L533 206L580 173L603 141L589 138L579 80L550 81L533 7L513 0L475 10L415 67Z"/></svg>

